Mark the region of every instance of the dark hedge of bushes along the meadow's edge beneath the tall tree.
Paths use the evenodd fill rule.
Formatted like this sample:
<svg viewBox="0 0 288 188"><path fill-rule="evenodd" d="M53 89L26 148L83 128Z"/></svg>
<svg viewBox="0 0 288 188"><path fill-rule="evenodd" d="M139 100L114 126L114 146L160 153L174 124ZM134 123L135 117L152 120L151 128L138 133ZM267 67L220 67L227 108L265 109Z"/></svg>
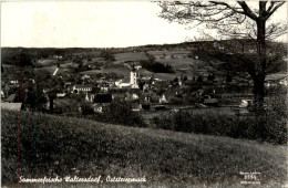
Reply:
<svg viewBox="0 0 288 188"><path fill-rule="evenodd" d="M275 112L275 111L274 111ZM284 116L277 117L270 111L261 117L219 114L192 114L186 111L153 118L157 128L176 132L229 136L256 139L272 144L287 142L287 125Z"/></svg>

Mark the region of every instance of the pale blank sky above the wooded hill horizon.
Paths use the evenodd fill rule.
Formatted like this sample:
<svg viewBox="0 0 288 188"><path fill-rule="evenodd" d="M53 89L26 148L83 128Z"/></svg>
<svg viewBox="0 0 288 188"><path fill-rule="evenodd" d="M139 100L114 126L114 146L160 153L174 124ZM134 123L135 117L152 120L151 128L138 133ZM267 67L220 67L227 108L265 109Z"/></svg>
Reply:
<svg viewBox="0 0 288 188"><path fill-rule="evenodd" d="M1 46L121 48L179 43L199 29L169 23L148 1L1 2ZM287 4L275 15L287 21Z"/></svg>

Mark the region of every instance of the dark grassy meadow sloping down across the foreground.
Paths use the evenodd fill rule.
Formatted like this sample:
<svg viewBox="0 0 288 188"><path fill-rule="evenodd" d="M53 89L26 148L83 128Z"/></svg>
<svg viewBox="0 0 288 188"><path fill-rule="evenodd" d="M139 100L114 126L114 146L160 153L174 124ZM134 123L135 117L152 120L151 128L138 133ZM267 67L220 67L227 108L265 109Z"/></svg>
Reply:
<svg viewBox="0 0 288 188"><path fill-rule="evenodd" d="M17 185L18 113L2 111L2 184ZM286 147L21 112L19 171L25 178L146 177L146 185L239 185L240 171L282 185Z"/></svg>

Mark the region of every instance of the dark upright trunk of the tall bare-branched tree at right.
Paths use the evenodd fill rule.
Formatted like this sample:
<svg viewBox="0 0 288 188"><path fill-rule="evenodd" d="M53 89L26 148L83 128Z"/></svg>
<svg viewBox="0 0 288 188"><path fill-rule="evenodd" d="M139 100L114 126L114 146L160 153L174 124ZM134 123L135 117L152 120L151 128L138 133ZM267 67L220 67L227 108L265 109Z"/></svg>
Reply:
<svg viewBox="0 0 288 188"><path fill-rule="evenodd" d="M255 63L254 75L254 100L256 114L264 112L264 82L265 82L265 69L266 69L266 42L265 42L265 23L266 20L259 18L257 20L257 53L258 60Z"/></svg>

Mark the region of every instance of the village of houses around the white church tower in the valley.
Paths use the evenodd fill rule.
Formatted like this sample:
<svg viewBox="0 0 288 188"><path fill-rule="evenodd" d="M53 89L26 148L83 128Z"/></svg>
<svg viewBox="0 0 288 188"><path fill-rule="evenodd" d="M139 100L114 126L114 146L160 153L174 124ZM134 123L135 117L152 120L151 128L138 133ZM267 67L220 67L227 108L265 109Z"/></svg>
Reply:
<svg viewBox="0 0 288 188"><path fill-rule="evenodd" d="M34 58L31 60L32 69L27 71L27 67L21 66L22 72L32 74L21 74L18 79L17 74L21 71L18 70L17 74L11 71L9 73L6 70L11 70L11 65L4 64L2 106L62 115L86 115L103 113L103 108L112 101L123 100L132 103L132 109L143 116L179 109L241 115L251 109L249 107L253 104L253 93L249 83L240 83L228 75L224 76L206 69L205 62L199 61L197 55L187 53L187 49L185 51L171 46L167 50L148 51L147 50L150 49L132 48L125 49L124 52L114 50L114 53L105 52L104 55L103 52L96 52L96 58L91 55L94 50L92 53L75 52L53 54L45 59ZM163 69L168 67L172 72L148 71L145 61L154 64L161 61L165 64ZM171 65L172 61L177 64ZM48 84L48 81L38 74L45 75L45 79L52 80L53 83ZM287 75L268 75L265 86L267 90L275 86L285 87Z"/></svg>

